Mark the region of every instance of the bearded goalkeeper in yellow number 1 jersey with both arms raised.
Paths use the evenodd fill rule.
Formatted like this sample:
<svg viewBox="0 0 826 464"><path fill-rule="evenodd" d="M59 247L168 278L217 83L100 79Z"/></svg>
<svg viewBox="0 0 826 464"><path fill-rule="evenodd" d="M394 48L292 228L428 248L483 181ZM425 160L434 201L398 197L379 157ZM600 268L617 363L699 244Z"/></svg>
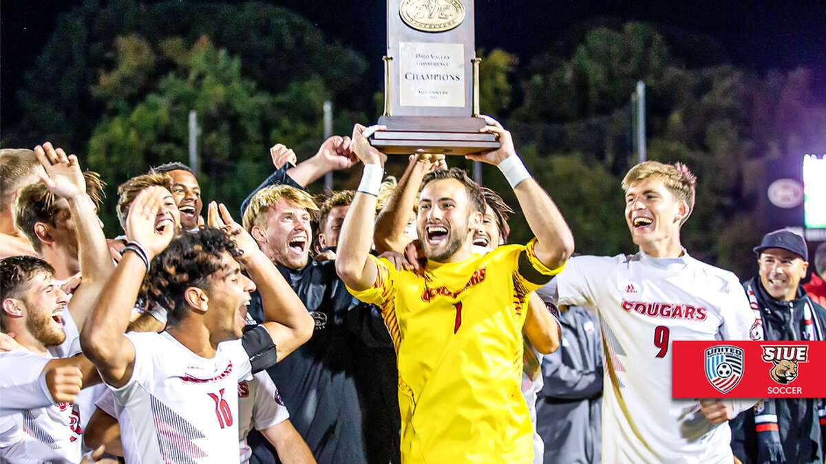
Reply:
<svg viewBox="0 0 826 464"><path fill-rule="evenodd" d="M362 183L344 220L336 270L359 300L382 309L396 346L402 462L531 462L528 408L520 393L522 325L530 291L560 272L573 238L550 197L493 122L501 148L469 159L498 166L536 234L529 244L474 255L484 199L461 169L422 182L418 234L424 277L374 258L373 222L387 157L356 125Z"/></svg>

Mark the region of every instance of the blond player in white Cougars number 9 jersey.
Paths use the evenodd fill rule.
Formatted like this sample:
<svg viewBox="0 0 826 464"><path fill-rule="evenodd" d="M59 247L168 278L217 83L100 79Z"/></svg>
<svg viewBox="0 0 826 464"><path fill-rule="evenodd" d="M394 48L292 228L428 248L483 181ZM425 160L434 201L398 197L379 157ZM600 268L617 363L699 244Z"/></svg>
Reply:
<svg viewBox="0 0 826 464"><path fill-rule="evenodd" d="M603 462L733 462L727 421L747 401L672 400L673 340L748 340L755 324L732 272L680 242L695 202L685 165L648 161L622 182L633 255L572 258L542 291L596 309L605 347Z"/></svg>

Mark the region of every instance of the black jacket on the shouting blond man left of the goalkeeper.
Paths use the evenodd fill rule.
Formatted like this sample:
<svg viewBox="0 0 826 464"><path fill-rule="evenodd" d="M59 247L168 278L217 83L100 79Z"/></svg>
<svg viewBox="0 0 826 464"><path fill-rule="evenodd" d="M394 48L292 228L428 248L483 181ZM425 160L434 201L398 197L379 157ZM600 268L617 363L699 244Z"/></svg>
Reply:
<svg viewBox="0 0 826 464"><path fill-rule="evenodd" d="M400 462L396 353L381 315L349 294L334 261L278 270L316 321L311 339L267 370L292 424L320 464ZM262 319L257 292L249 314Z"/></svg>

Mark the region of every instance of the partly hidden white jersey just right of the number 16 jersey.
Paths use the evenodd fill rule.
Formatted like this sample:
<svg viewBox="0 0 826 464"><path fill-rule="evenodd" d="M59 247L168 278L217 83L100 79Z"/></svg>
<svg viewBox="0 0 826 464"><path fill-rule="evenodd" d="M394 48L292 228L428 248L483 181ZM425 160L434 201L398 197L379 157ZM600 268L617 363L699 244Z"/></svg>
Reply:
<svg viewBox="0 0 826 464"><path fill-rule="evenodd" d="M247 434L254 427L264 430L290 419L278 388L266 371L253 376L251 381L238 382L238 440L241 463L246 464L253 455L247 445Z"/></svg>

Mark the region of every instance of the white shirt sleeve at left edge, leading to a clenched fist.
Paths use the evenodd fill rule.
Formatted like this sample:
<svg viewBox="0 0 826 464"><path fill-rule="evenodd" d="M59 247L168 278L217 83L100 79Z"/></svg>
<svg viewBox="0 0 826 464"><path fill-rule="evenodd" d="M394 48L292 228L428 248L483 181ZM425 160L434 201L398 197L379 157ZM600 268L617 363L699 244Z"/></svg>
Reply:
<svg viewBox="0 0 826 464"><path fill-rule="evenodd" d="M55 403L43 372L48 357L26 349L0 353L0 416Z"/></svg>

